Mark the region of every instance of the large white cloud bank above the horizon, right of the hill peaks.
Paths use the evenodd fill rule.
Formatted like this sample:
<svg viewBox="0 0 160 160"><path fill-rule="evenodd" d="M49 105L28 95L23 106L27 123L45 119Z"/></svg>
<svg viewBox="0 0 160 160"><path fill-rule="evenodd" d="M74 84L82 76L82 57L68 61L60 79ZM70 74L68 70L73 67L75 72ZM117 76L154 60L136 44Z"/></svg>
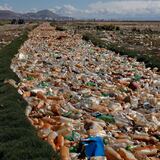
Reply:
<svg viewBox="0 0 160 160"><path fill-rule="evenodd" d="M72 5L64 5L52 9L55 13L75 18L160 18L160 0L109 0L91 3L86 9L78 9Z"/></svg>

